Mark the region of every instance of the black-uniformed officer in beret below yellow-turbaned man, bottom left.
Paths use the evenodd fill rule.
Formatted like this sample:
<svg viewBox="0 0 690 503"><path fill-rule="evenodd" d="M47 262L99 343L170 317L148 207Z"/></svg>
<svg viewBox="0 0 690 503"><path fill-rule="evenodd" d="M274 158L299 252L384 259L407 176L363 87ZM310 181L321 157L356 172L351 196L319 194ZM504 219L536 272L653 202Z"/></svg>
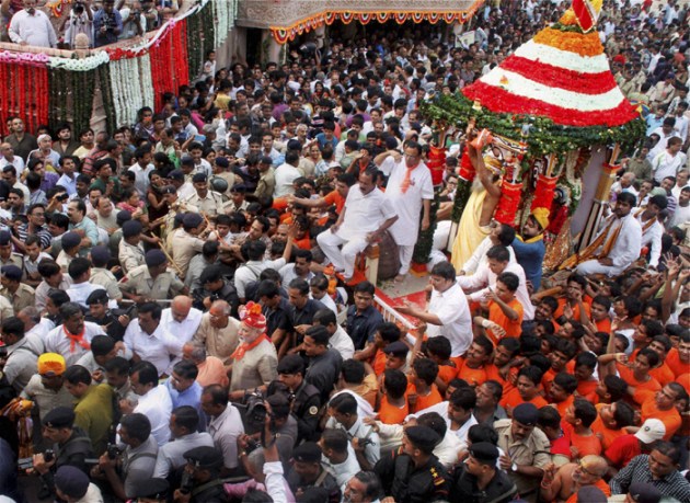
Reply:
<svg viewBox="0 0 690 503"><path fill-rule="evenodd" d="M91 439L74 426L74 411L69 407L56 407L43 419L43 436L53 442L51 451L35 454L34 470L41 476L43 488L38 499L55 492L55 472L62 466L72 466L89 475L87 458L93 458Z"/></svg>

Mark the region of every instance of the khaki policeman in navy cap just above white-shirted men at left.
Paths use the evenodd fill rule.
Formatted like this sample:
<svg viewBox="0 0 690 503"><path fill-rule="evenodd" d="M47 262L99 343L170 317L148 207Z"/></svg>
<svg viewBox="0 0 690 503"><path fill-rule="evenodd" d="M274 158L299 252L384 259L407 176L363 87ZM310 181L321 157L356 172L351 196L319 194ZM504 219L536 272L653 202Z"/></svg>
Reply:
<svg viewBox="0 0 690 503"><path fill-rule="evenodd" d="M146 264L129 272L119 282L125 297L137 304L145 299L164 300L186 294L184 283L172 271L168 271L168 258L161 250L149 250Z"/></svg>

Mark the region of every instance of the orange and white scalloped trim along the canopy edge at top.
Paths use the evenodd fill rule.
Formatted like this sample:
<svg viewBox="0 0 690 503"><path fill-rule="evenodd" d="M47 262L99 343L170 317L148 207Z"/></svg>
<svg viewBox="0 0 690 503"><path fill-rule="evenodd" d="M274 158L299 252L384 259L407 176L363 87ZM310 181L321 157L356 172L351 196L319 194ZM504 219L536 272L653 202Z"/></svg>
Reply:
<svg viewBox="0 0 690 503"><path fill-rule="evenodd" d="M298 23L290 26L271 26L273 37L278 44L286 44L292 42L296 36L302 33L309 33L324 24L331 25L335 21L341 21L344 24L349 24L353 21L357 21L361 24L368 24L371 21L378 23L386 23L387 21L395 21L398 24L404 24L407 21L412 21L415 24L419 24L423 21L428 21L432 24L438 22L445 22L448 24L458 22L465 23L476 10L484 4L484 0L475 0L474 3L467 11L446 11L446 12L418 12L418 11L380 11L380 12L353 12L348 11L329 11L320 14L312 15L303 19Z"/></svg>

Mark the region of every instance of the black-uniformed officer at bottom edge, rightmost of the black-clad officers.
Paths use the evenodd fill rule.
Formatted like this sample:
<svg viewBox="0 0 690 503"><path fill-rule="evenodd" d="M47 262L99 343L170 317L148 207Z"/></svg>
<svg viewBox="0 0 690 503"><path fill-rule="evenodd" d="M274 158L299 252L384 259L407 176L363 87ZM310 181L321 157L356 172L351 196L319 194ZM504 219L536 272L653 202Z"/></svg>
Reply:
<svg viewBox="0 0 690 503"><path fill-rule="evenodd" d="M503 503L513 500L517 488L508 475L496 468L498 448L488 442L478 442L470 455L453 473L450 501L461 503Z"/></svg>

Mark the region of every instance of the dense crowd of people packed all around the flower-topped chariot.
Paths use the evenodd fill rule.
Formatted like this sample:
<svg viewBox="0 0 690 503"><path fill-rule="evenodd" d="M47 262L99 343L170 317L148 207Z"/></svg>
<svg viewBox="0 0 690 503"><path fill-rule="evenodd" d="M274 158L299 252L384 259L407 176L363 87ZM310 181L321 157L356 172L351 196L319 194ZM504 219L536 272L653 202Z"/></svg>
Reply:
<svg viewBox="0 0 690 503"><path fill-rule="evenodd" d="M566 7L486 5L467 47L370 24L286 65L211 53L112 136L10 117L0 501L690 501L685 9L605 5L648 138L562 281L542 210L460 266L436 245L426 305L396 308L413 329L363 276L378 244L407 281L435 191L449 218L463 148L435 188L423 101Z"/></svg>

